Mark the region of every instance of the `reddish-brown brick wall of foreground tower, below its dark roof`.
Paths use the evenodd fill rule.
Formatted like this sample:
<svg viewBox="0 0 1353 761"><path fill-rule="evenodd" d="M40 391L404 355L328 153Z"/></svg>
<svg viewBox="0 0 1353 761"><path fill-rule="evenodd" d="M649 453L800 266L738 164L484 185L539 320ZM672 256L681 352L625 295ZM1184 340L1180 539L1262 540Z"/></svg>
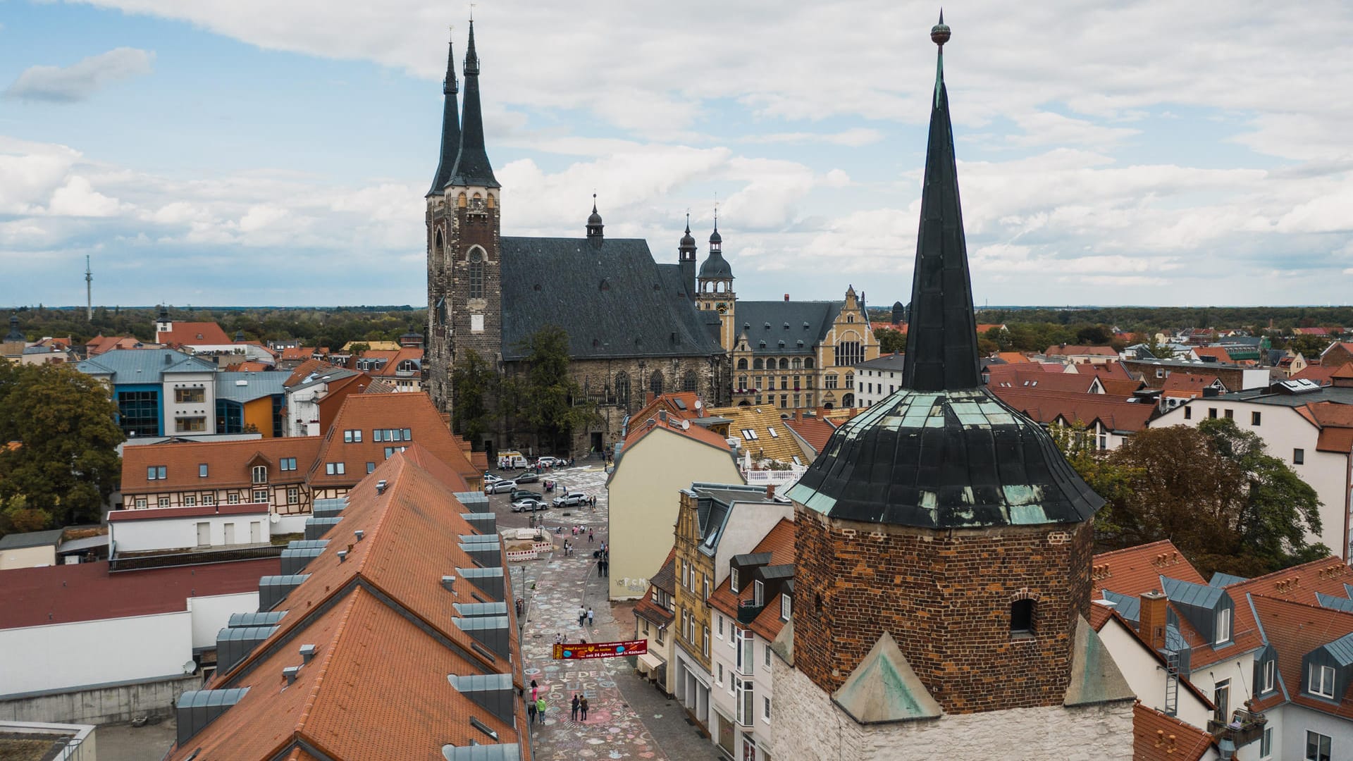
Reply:
<svg viewBox="0 0 1353 761"><path fill-rule="evenodd" d="M1061 705L1089 615L1089 524L930 531L796 512L794 664L823 691L886 630L946 714ZM1034 636L1011 632L1022 599Z"/></svg>

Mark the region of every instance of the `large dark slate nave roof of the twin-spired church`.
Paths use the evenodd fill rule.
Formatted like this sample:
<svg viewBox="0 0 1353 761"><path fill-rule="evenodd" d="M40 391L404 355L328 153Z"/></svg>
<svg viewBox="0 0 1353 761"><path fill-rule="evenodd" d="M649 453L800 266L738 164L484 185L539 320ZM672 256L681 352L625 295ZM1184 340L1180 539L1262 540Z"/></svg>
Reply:
<svg viewBox="0 0 1353 761"><path fill-rule="evenodd" d="M653 261L643 238L503 236L501 251L503 359L524 359L545 325L568 333L574 359L723 353L681 267Z"/></svg>

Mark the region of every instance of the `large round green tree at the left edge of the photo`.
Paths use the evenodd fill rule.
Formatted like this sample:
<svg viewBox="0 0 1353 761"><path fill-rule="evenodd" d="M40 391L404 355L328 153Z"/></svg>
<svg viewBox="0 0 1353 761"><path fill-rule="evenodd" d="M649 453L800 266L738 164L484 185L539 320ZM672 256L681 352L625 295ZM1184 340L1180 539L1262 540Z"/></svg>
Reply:
<svg viewBox="0 0 1353 761"><path fill-rule="evenodd" d="M0 505L31 524L97 520L122 477L108 390L62 364L0 368ZM19 498L22 497L22 504ZM9 521L19 523L15 516Z"/></svg>

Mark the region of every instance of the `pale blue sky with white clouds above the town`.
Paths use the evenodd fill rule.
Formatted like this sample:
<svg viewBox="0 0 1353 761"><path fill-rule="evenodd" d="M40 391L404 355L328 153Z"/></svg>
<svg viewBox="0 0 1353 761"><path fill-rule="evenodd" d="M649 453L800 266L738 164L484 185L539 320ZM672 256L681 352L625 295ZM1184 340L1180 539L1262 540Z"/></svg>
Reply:
<svg viewBox="0 0 1353 761"><path fill-rule="evenodd" d="M0 305L423 303L432 0L0 0ZM932 3L486 0L503 233L907 301ZM950 4L978 303L1349 303L1353 4ZM702 244L704 248L704 244Z"/></svg>

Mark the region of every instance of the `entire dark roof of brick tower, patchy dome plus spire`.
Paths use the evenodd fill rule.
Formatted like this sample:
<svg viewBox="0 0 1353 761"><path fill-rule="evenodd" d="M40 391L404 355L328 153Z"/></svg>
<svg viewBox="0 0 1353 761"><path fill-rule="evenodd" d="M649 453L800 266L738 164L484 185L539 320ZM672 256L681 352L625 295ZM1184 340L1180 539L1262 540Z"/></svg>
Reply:
<svg viewBox="0 0 1353 761"><path fill-rule="evenodd" d="M1043 428L981 383L940 45L902 387L832 433L789 496L829 517L923 528L1081 523L1103 506Z"/></svg>

